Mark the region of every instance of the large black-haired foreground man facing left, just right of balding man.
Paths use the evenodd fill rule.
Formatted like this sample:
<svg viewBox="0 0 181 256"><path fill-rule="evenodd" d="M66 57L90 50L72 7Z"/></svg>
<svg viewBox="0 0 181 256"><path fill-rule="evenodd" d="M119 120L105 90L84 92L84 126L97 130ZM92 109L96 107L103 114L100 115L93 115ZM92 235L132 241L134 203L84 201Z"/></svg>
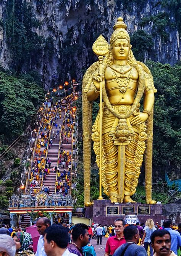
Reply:
<svg viewBox="0 0 181 256"><path fill-rule="evenodd" d="M75 256L66 248L69 236L65 228L52 225L45 229L44 248L47 256Z"/></svg>

